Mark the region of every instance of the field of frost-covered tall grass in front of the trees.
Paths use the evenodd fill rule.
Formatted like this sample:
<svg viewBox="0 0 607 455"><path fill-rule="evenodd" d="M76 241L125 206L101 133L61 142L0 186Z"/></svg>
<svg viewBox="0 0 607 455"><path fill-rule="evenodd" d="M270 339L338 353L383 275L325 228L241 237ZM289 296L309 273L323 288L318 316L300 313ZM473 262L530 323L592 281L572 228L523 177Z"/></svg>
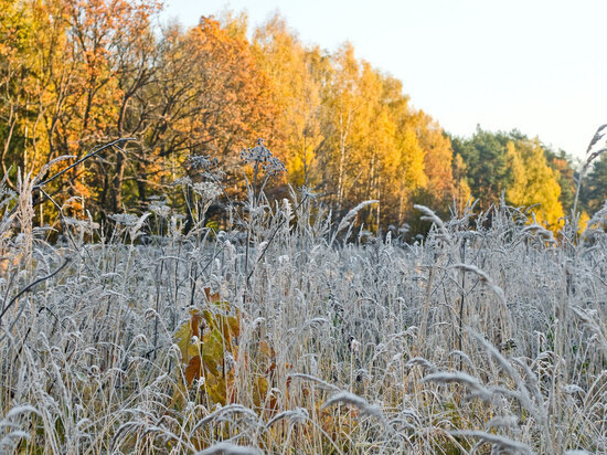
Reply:
<svg viewBox="0 0 607 455"><path fill-rule="evenodd" d="M108 237L64 220L55 245L22 200L1 244L0 452L607 452L601 214L554 242L511 208L419 208L435 225L406 244L297 198L216 235L159 207ZM185 384L174 339L205 287L241 315L223 404Z"/></svg>

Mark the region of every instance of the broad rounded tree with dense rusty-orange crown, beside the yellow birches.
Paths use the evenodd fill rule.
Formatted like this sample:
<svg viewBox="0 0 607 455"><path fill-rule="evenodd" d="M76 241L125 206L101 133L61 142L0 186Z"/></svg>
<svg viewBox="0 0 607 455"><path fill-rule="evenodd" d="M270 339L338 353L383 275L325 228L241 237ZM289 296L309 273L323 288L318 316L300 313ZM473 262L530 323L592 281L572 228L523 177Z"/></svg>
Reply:
<svg viewBox="0 0 607 455"><path fill-rule="evenodd" d="M170 28L160 43L160 70L149 103L156 106L143 142L164 177L190 155L219 157L228 179L238 151L268 138L277 109L269 78L242 33L201 18L194 28ZM238 176L239 177L239 176ZM226 186L242 190L230 179Z"/></svg>

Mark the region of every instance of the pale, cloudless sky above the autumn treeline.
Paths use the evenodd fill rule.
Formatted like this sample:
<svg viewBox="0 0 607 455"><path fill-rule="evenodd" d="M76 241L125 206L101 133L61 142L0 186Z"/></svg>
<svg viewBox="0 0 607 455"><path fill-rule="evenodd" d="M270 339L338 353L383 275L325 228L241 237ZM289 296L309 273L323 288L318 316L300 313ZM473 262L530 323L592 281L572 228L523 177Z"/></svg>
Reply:
<svg viewBox="0 0 607 455"><path fill-rule="evenodd" d="M582 157L607 123L606 0L167 0L164 18L276 11L305 43L356 55L403 81L449 133L518 128Z"/></svg>

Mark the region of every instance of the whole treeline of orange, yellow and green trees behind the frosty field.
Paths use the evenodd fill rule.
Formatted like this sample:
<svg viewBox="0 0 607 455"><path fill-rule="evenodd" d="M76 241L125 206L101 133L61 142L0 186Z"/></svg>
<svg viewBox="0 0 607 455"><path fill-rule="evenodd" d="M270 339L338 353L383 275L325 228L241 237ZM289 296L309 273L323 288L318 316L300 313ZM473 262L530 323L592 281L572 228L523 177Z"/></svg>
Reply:
<svg viewBox="0 0 607 455"><path fill-rule="evenodd" d="M103 216L161 193L178 204L170 183L196 178L188 156L216 157L225 187L238 193L238 152L265 138L288 169L273 191L307 186L336 212L380 200L365 213L371 229L401 226L414 203L447 212L470 198L487 208L503 194L515 205L540 204L536 218L553 226L571 208L565 154L517 131L449 137L350 44L332 53L305 45L279 17L252 34L244 17L230 14L161 27L160 9L156 0L0 0L9 184L19 168L35 173L57 157L135 137L49 192L73 214L87 208ZM593 172L583 202L596 210L607 162Z"/></svg>

